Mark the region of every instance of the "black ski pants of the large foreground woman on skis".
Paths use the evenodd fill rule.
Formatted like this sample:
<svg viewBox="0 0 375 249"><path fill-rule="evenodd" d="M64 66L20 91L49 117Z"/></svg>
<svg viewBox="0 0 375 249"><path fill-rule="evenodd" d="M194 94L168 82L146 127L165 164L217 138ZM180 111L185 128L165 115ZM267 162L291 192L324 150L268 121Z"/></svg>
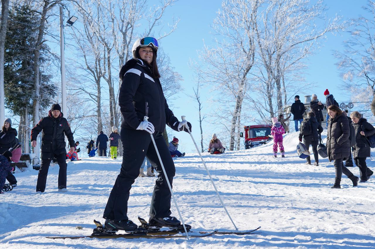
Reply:
<svg viewBox="0 0 375 249"><path fill-rule="evenodd" d="M123 128L120 135L123 144L122 165L104 209L103 218L115 221L128 219L127 202L130 188L139 175L144 157L147 157L151 165L156 166L156 171L159 174L152 194L150 217L162 218L171 215L171 191L169 191L150 133L144 130ZM157 132L153 136L169 182L172 185L175 167L165 144L163 133Z"/></svg>

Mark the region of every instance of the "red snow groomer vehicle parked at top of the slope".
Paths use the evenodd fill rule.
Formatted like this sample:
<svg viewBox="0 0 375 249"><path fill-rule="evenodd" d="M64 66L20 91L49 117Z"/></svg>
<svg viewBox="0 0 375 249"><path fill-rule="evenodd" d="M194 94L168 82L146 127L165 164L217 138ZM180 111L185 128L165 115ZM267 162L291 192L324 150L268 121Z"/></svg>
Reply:
<svg viewBox="0 0 375 249"><path fill-rule="evenodd" d="M271 124L257 124L245 126L245 149L252 148L260 144L266 144L266 142L272 140L268 135L271 135ZM240 137L243 137L243 133L240 132Z"/></svg>

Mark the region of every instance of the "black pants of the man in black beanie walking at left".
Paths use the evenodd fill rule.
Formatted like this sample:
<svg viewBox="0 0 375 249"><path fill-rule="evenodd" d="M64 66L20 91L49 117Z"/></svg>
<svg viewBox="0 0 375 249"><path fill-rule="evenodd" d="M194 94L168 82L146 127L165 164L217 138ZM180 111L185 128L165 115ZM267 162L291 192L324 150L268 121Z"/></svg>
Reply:
<svg viewBox="0 0 375 249"><path fill-rule="evenodd" d="M64 153L60 155L55 154L54 157L60 167L58 170L58 189L66 188L66 155ZM42 159L36 183L36 191L44 192L50 164L51 159Z"/></svg>

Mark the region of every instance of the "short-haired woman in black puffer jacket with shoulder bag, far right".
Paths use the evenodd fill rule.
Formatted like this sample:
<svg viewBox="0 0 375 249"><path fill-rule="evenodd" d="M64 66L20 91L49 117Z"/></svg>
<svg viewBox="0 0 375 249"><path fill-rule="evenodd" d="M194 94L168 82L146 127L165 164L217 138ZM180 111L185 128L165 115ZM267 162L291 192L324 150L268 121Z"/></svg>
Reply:
<svg viewBox="0 0 375 249"><path fill-rule="evenodd" d="M360 169L361 182L366 182L374 173L366 165L366 157L371 156L370 143L366 136L374 135L375 128L366 119L363 119L358 111L353 111L350 117L356 130L356 145L352 147L354 163Z"/></svg>

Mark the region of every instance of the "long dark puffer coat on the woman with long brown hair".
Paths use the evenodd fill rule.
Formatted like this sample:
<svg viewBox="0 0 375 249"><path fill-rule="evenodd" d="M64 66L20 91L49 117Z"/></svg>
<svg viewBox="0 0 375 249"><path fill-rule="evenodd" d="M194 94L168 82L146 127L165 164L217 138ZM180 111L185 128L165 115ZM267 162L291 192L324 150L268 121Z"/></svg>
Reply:
<svg viewBox="0 0 375 249"><path fill-rule="evenodd" d="M329 119L327 130L327 152L330 161L348 158L350 155L350 127L344 114Z"/></svg>

